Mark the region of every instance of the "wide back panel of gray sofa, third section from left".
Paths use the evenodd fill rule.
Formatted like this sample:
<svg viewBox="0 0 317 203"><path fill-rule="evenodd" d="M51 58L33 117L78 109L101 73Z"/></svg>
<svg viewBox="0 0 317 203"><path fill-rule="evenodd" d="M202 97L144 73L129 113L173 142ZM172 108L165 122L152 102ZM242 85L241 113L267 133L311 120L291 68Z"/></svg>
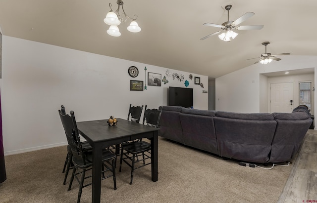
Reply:
<svg viewBox="0 0 317 203"><path fill-rule="evenodd" d="M219 155L248 162L268 162L276 121L270 114L216 112Z"/></svg>

